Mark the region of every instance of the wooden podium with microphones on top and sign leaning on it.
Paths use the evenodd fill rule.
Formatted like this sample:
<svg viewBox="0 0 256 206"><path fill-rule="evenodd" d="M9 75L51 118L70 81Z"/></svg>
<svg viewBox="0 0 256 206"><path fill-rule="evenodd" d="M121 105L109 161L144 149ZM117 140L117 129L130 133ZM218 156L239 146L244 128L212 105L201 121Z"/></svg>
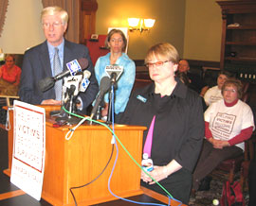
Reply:
<svg viewBox="0 0 256 206"><path fill-rule="evenodd" d="M82 125L74 132L70 140L65 135L70 127L53 128L54 120L49 111L59 108L46 108L46 166L42 197L52 205L75 205L69 191L90 182L100 175L107 164L112 151L112 134L100 125ZM13 144L13 112L9 113L9 169L10 174ZM145 127L115 126L119 140L131 153L137 163L141 162L142 137ZM140 168L119 145L119 158L110 183L111 190L119 197L131 197L142 194L140 189ZM79 205L91 205L116 199L108 191L108 179L115 162L117 149L110 164L99 179L73 193Z"/></svg>

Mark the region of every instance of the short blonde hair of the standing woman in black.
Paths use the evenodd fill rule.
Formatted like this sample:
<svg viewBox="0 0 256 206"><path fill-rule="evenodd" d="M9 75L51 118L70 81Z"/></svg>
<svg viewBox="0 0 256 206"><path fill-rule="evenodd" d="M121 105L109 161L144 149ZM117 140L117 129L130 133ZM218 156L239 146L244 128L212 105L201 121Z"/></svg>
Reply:
<svg viewBox="0 0 256 206"><path fill-rule="evenodd" d="M147 52L145 64L154 56L156 58L166 58L167 60L171 60L174 64L177 64L179 60L178 52L171 43L157 43L152 46Z"/></svg>

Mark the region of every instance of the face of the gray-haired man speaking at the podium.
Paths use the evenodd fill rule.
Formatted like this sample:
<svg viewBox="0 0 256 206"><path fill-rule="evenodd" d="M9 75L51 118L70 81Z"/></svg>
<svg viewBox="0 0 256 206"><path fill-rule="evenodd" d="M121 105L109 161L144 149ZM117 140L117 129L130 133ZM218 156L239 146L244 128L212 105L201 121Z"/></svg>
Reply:
<svg viewBox="0 0 256 206"><path fill-rule="evenodd" d="M47 15L43 19L46 40L53 46L58 46L63 42L66 27L67 24L63 24L60 15Z"/></svg>

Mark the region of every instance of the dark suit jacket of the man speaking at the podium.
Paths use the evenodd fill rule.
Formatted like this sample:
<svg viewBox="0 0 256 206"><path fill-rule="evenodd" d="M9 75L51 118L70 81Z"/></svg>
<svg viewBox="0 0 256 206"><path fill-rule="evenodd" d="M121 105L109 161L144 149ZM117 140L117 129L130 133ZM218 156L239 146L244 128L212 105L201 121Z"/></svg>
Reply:
<svg viewBox="0 0 256 206"><path fill-rule="evenodd" d="M64 41L64 70L65 64L71 60L85 58L89 61L87 70L91 72L90 85L82 98L83 112L93 102L98 94L99 86L95 77L94 67L89 56L88 48L82 44ZM43 100L55 99L54 87L42 93L38 82L46 77L52 77L47 43L41 43L26 51L23 60L19 95L22 101L30 104L41 104Z"/></svg>

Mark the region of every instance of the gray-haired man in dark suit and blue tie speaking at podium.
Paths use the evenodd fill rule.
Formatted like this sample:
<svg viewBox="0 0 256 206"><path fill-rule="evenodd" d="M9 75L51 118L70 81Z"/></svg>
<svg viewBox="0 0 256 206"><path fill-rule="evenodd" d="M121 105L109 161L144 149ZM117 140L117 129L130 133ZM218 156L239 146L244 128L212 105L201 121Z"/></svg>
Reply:
<svg viewBox="0 0 256 206"><path fill-rule="evenodd" d="M59 58L59 67L62 70L67 69L65 66L67 62L85 58L89 62L86 69L91 72L89 87L84 93L79 94L82 99L79 109L85 112L99 91L88 48L82 44L71 43L64 39L68 21L68 14L64 9L59 7L45 8L41 13L41 20L46 42L30 48L25 53L19 91L20 98L30 104L60 105L61 99L60 97L58 99L58 95L61 96L62 89L57 91L53 87L43 93L39 88L39 81L59 74L55 71L56 63L54 59L56 53Z"/></svg>

